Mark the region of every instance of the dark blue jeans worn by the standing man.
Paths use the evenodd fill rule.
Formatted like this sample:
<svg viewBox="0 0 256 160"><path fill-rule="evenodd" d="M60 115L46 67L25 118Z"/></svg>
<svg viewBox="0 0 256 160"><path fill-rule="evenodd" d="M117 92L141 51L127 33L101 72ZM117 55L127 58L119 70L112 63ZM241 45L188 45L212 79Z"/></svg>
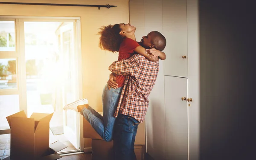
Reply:
<svg viewBox="0 0 256 160"><path fill-rule="evenodd" d="M134 141L139 124L131 116L118 114L113 138L115 160L136 160Z"/></svg>

